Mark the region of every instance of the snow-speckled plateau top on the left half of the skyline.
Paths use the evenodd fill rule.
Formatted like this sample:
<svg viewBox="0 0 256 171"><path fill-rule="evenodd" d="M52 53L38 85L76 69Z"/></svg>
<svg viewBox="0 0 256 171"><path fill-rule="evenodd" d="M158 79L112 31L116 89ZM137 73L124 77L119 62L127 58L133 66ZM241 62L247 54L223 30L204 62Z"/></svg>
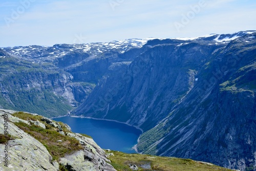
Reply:
<svg viewBox="0 0 256 171"><path fill-rule="evenodd" d="M63 57L74 53L84 53L90 55L90 58L97 57L105 52L112 50L124 53L133 48L141 48L146 44L147 39L126 39L111 42L95 42L91 44L56 44L53 47L47 46L27 46L27 47L8 47L3 48L6 52L19 58L24 58L33 62L54 61L56 58Z"/></svg>

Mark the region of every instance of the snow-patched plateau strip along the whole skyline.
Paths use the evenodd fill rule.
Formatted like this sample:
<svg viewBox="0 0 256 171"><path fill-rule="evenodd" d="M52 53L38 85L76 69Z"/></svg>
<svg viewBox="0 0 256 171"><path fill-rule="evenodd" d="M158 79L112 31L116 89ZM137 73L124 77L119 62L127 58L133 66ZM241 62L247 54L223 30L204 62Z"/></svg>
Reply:
<svg viewBox="0 0 256 171"><path fill-rule="evenodd" d="M125 53L133 48L141 48L143 47L148 40L153 39L173 39L173 40L209 40L208 45L212 44L226 44L231 40L234 40L238 37L255 33L256 31L240 31L232 34L208 34L204 36L198 37L178 37L178 38L157 38L157 37L148 37L144 39L139 38L131 38L125 40L115 40L111 42L93 42L89 44L56 44L52 47L47 46L27 46L27 47L8 47L2 48L11 55L15 55L19 58L26 58L27 60L31 60L36 63L40 63L43 61L55 60L56 58L68 55L70 53L80 52L80 53L88 53L90 58L99 57L102 53L118 51L119 53ZM255 38L254 36L250 36L249 38ZM248 40L247 40L248 41ZM182 42L177 46L186 45L188 42ZM2 58L4 56L1 56Z"/></svg>

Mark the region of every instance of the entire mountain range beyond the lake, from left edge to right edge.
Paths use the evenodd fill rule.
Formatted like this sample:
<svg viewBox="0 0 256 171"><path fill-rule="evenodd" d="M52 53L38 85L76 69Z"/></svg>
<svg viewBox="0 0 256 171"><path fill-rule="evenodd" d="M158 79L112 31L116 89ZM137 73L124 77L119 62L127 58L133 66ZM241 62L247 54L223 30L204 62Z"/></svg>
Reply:
<svg viewBox="0 0 256 171"><path fill-rule="evenodd" d="M253 170L255 36L3 48L0 105L129 123L139 152Z"/></svg>

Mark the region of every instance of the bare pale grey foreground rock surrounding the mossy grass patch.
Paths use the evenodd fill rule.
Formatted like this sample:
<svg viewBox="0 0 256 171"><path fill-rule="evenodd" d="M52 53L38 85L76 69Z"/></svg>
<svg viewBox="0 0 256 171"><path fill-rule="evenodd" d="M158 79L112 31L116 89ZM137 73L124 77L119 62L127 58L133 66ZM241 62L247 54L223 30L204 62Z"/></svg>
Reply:
<svg viewBox="0 0 256 171"><path fill-rule="evenodd" d="M0 157L3 159L5 154L8 154L8 164L1 160L0 170L59 170L59 165L63 165L69 170L110 170L114 171L113 166L108 164L109 159L106 158L106 154L93 139L83 137L80 134L69 133L66 136L76 138L83 149L74 152L72 155L60 158L60 160L53 161L52 156L47 151L47 148L42 145L35 138L20 130L13 122L24 122L26 124L38 124L39 121L28 122L23 119L12 116L15 111L0 110L0 134L4 134L4 116L8 116L8 134L13 137L13 140L8 141L8 153L2 153L5 151L6 144L0 144ZM54 123L51 119L43 118L46 123ZM44 124L43 124L44 125ZM60 125L52 124L52 126L59 127ZM41 127L41 126L40 126ZM67 126L67 129L70 129ZM61 140L60 140L61 141ZM6 148L7 149L7 148Z"/></svg>

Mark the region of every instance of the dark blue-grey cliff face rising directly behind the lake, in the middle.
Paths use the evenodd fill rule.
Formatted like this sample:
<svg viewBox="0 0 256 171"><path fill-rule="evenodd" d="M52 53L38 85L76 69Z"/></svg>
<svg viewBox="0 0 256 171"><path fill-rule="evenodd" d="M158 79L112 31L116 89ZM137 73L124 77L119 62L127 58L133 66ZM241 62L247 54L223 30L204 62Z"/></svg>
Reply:
<svg viewBox="0 0 256 171"><path fill-rule="evenodd" d="M195 76L215 50L194 42L177 45L155 45L132 63L111 66L75 113L151 129L194 87Z"/></svg>

